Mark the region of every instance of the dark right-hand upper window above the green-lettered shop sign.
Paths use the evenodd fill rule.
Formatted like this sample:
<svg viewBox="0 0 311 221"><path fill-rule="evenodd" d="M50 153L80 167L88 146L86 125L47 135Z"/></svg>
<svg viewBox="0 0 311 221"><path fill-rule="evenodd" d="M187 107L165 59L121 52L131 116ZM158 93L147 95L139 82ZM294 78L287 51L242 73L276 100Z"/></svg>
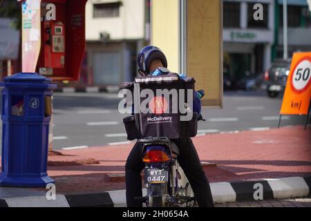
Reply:
<svg viewBox="0 0 311 221"><path fill-rule="evenodd" d="M268 4L261 3L263 6L263 20L254 19L254 5L256 3L247 4L247 27L248 28L267 28L268 27Z"/></svg>

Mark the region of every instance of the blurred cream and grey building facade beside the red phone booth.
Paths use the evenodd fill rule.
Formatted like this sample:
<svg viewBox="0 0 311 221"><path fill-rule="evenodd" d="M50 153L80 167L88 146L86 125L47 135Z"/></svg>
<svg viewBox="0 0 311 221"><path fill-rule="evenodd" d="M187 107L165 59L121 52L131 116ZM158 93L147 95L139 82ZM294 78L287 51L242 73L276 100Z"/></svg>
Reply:
<svg viewBox="0 0 311 221"><path fill-rule="evenodd" d="M136 75L136 56L148 41L145 0L90 0L86 3L86 65L82 81L117 86ZM146 16L147 15L147 16Z"/></svg>

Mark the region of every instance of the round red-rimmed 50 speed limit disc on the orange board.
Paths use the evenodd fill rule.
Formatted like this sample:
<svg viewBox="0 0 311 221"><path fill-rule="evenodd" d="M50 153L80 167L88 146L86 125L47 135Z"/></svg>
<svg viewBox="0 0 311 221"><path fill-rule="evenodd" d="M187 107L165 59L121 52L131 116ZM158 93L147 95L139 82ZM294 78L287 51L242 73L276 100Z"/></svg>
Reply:
<svg viewBox="0 0 311 221"><path fill-rule="evenodd" d="M302 93L307 90L311 83L311 59L304 57L297 62L291 79L292 90Z"/></svg>

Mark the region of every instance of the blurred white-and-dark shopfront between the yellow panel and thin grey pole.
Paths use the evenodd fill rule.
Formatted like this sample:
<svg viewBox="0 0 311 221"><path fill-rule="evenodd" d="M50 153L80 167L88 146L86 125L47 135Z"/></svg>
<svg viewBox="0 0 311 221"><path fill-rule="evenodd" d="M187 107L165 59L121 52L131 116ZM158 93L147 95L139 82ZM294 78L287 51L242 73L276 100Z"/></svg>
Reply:
<svg viewBox="0 0 311 221"><path fill-rule="evenodd" d="M258 7L262 20L254 18ZM236 82L263 73L270 67L273 44L274 0L223 1L225 77Z"/></svg>

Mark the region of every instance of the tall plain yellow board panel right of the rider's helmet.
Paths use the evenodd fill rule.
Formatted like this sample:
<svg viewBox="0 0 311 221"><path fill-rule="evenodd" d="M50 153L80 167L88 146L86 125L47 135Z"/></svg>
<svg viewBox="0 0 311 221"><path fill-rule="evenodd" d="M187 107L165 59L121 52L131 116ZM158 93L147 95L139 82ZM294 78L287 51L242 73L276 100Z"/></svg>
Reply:
<svg viewBox="0 0 311 221"><path fill-rule="evenodd" d="M222 106L222 1L187 2L187 75L196 79L197 89L205 90L203 105Z"/></svg>

